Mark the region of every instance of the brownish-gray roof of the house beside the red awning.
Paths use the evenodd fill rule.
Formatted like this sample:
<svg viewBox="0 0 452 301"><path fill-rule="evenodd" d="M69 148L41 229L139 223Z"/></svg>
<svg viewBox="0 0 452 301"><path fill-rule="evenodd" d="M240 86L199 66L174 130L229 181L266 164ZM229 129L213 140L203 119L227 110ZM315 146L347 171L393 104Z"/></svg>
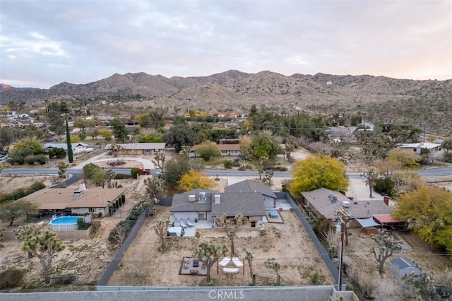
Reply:
<svg viewBox="0 0 452 301"><path fill-rule="evenodd" d="M335 203L328 202L328 196L333 194L336 196ZM389 214L393 211L386 203L381 200L374 201L350 201L346 196L338 191L326 188L319 188L313 191L304 191L302 196L306 199L310 206L327 218L332 220L335 218L335 210L341 208L343 201L350 203L350 218L370 218L374 214Z"/></svg>

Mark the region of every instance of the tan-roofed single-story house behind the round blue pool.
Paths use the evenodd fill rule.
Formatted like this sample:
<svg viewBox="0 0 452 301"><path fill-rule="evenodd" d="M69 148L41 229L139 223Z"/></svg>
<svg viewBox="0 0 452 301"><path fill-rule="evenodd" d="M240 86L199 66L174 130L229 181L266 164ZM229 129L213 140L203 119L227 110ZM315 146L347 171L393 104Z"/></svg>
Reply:
<svg viewBox="0 0 452 301"><path fill-rule="evenodd" d="M108 207L124 194L126 188L93 187L84 189L46 188L23 197L23 200L35 203L40 213L49 214L85 214L102 213L109 215Z"/></svg>

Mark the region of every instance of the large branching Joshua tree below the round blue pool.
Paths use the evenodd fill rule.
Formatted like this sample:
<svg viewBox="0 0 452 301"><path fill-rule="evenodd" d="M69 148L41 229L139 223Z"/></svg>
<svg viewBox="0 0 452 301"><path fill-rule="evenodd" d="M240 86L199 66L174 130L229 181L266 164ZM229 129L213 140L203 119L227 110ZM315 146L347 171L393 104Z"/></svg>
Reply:
<svg viewBox="0 0 452 301"><path fill-rule="evenodd" d="M28 229L34 228L34 229ZM36 226L18 227L13 230L18 240L23 241L23 250L30 252L40 259L44 269L45 283L50 283L50 271L52 271L52 259L54 254L64 250L64 244L57 238L57 233L42 230ZM28 235L26 235L28 234Z"/></svg>

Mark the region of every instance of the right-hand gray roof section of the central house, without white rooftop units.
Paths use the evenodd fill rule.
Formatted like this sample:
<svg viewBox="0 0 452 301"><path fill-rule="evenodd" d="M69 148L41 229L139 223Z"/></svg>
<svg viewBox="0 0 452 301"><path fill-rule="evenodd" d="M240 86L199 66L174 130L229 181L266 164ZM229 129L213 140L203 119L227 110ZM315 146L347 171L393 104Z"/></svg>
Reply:
<svg viewBox="0 0 452 301"><path fill-rule="evenodd" d="M239 192L220 194L220 203L212 203L212 216L235 216L242 213L244 216L265 216L266 208L263 206L263 197L260 192Z"/></svg>

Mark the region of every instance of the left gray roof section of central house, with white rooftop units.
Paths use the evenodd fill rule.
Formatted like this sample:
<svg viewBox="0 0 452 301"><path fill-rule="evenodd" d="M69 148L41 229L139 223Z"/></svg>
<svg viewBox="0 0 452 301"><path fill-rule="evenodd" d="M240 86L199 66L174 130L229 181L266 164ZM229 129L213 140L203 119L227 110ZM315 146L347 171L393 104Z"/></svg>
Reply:
<svg viewBox="0 0 452 301"><path fill-rule="evenodd" d="M200 192L206 192L206 202L199 203L198 197ZM171 212L194 212L194 211L211 211L212 209L212 195L217 191L206 189L193 189L183 194L174 194L172 197ZM189 196L194 194L195 201L189 202Z"/></svg>

